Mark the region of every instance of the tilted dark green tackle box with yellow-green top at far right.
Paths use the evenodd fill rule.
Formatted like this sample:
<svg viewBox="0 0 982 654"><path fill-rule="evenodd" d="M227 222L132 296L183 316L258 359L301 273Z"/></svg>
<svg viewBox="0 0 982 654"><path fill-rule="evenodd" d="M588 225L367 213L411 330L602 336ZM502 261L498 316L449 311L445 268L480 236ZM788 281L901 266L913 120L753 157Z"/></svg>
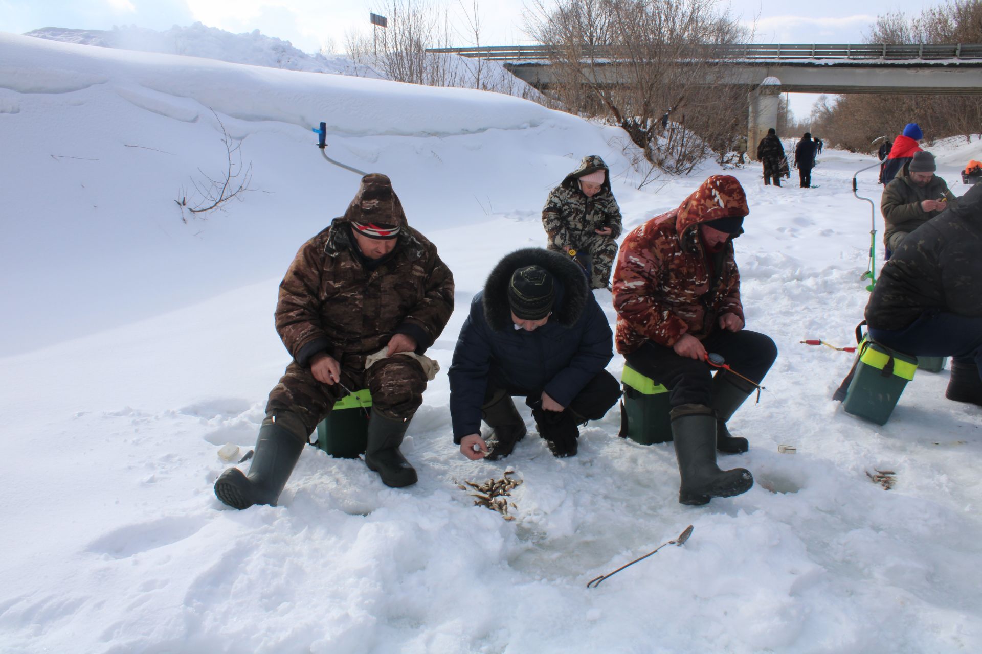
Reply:
<svg viewBox="0 0 982 654"><path fill-rule="evenodd" d="M877 425L886 425L903 387L914 378L917 357L884 347L868 337L859 344L857 356L843 409Z"/></svg>

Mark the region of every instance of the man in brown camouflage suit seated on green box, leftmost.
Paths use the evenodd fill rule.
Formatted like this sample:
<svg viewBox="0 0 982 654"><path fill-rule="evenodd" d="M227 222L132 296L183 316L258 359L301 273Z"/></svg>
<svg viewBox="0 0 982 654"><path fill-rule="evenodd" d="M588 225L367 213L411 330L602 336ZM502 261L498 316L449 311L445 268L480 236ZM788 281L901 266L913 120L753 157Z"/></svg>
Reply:
<svg viewBox="0 0 982 654"><path fill-rule="evenodd" d="M389 177L362 177L345 215L300 247L280 283L276 329L293 357L269 394L249 475L226 471L215 493L244 509L275 504L307 436L348 389L367 388L367 466L390 486L416 481L399 452L422 403L422 355L454 310L454 277L407 224ZM386 357L365 369L380 350ZM421 363L423 362L423 363Z"/></svg>

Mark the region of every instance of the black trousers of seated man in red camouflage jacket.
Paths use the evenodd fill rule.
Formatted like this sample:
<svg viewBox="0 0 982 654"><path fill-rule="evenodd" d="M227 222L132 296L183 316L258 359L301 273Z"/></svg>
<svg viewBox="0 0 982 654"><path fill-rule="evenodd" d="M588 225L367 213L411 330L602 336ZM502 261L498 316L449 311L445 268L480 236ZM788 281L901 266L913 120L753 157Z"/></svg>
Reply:
<svg viewBox="0 0 982 654"><path fill-rule="evenodd" d="M778 356L778 347L767 336L749 329L717 330L702 341L706 352L719 354L736 373L760 383ZM631 368L669 389L673 407L683 404L709 406L713 399L713 368L705 361L676 354L671 347L646 341L625 355Z"/></svg>

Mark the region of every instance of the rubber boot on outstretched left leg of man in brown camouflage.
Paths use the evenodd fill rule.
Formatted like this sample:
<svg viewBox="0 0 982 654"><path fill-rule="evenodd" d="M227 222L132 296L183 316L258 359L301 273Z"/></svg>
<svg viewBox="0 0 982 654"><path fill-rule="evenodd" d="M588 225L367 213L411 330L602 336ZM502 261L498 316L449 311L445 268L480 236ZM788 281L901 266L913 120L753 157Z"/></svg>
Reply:
<svg viewBox="0 0 982 654"><path fill-rule="evenodd" d="M248 477L238 468L222 473L215 480L218 499L235 509L253 504L276 506L306 444L306 437L299 435L302 431L300 419L293 416L262 421Z"/></svg>

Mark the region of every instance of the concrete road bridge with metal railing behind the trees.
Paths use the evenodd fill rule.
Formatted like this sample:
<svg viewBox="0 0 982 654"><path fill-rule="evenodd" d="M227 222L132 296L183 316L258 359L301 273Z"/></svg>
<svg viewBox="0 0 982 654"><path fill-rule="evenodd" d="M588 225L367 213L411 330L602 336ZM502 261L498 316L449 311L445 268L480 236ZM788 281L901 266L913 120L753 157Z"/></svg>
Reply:
<svg viewBox="0 0 982 654"><path fill-rule="evenodd" d="M546 46L434 48L493 59L541 90L556 82ZM695 46L683 58L732 66L732 82L750 95L749 154L768 127L776 126L782 93L883 93L982 95L982 44L772 44ZM623 52L616 47L581 53L583 74L602 84L623 81ZM585 62L590 62L586 64Z"/></svg>

